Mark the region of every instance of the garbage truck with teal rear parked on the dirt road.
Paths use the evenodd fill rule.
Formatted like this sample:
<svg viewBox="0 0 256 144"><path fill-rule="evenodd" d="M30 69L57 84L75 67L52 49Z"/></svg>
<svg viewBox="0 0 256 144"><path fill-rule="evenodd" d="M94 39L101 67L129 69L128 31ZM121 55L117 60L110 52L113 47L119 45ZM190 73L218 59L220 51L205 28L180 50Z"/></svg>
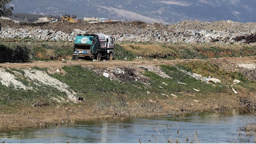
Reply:
<svg viewBox="0 0 256 144"><path fill-rule="evenodd" d="M78 34L73 46L72 58L96 59L102 58L113 60L114 58L114 38L105 34Z"/></svg>

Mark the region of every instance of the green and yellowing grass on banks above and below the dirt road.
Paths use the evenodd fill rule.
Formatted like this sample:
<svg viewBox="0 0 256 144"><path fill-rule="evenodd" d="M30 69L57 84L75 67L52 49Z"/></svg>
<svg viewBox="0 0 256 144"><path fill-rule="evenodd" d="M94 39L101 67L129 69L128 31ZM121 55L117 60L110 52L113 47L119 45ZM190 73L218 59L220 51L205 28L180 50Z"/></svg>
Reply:
<svg viewBox="0 0 256 144"><path fill-rule="evenodd" d="M13 49L17 51L23 48L24 52L29 53L31 60L57 60L71 59L72 42L40 42L33 40L7 40L0 43L1 49ZM15 51L16 50L16 51ZM221 44L146 44L146 43L117 43L114 58L117 60L134 60L136 56L142 56L144 59L207 59L219 58L221 56L250 56L256 55L255 47L249 45L221 45ZM4 56L4 55L2 55ZM26 58L24 54L24 58ZM21 58L22 59L22 58ZM1 60L1 57L0 57ZM216 86L208 85L194 78L190 78L179 69L184 69L189 72L198 73L202 76L215 76L223 79L223 84ZM47 68L33 68L45 71ZM160 76L146 71L145 76L149 78L147 84L139 81L125 81L119 83L110 81L104 76L97 75L93 71L82 68L81 66L65 66L63 69L66 75L49 74L63 83L70 86L70 89L77 92L77 97L86 97L86 103L83 105L95 105L97 109L106 109L107 107L125 107L127 102L140 100L155 100L165 99L161 94L170 95L171 93L178 95L183 99L184 94L195 96L204 96L211 92L217 94L225 92L226 84L232 84L232 80L239 79L242 81L239 86L247 88L250 91L256 91L256 84L249 81L237 72L227 72L220 70L218 66L205 63L180 63L175 66L161 65L161 69L171 77L170 79L161 78ZM14 89L12 85L6 87L0 85L0 103L1 110L4 112L16 112L20 106L31 106L38 100L47 102L49 106L58 105L59 103L51 97L62 95L66 97L64 92L60 92L56 88L48 85L35 85L31 79L24 76L22 69L6 69L8 73L17 76L17 80L24 85L32 86L35 90ZM17 73L18 72L18 73ZM180 85L178 81L187 85ZM167 85L163 86L163 82ZM161 88L160 88L161 87ZM193 91L193 88L199 89L200 94ZM171 101L170 101L171 103ZM63 102L65 104L65 102ZM63 105L60 104L60 105ZM67 104L65 104L67 105ZM72 105L72 104L68 104ZM1 111L1 112L2 112Z"/></svg>

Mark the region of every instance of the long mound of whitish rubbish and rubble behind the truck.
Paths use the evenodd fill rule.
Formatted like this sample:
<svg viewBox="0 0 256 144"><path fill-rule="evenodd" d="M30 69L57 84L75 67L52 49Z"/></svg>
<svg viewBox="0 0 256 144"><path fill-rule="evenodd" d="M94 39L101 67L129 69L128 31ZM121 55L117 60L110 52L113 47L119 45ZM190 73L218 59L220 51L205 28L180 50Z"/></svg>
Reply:
<svg viewBox="0 0 256 144"><path fill-rule="evenodd" d="M182 43L255 43L256 23L181 21L171 25L157 23L13 23L0 19L0 38L36 38L41 40L74 40L77 34L105 33L117 41Z"/></svg>

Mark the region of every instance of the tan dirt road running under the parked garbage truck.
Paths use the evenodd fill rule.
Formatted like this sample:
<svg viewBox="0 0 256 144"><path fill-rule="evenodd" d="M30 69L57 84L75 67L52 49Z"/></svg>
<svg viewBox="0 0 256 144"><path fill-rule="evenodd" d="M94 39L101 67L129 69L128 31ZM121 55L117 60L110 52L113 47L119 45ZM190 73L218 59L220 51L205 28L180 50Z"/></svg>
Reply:
<svg viewBox="0 0 256 144"><path fill-rule="evenodd" d="M228 69L232 70L232 65L239 64L254 64L256 61L256 56L249 56L244 58L213 58L206 59L210 61L218 61L220 67L229 67ZM9 68L31 68L37 66L40 68L51 68L51 67L62 67L70 65L81 65L84 67L95 67L95 68L104 68L109 66L135 66L135 65L160 65L160 64L177 64L186 61L206 61L202 59L175 59L175 60L142 60L137 59L135 61L125 61L125 60L113 60L113 61L89 61L89 60L63 60L63 61L32 61L29 63L0 63L0 66L9 67Z"/></svg>

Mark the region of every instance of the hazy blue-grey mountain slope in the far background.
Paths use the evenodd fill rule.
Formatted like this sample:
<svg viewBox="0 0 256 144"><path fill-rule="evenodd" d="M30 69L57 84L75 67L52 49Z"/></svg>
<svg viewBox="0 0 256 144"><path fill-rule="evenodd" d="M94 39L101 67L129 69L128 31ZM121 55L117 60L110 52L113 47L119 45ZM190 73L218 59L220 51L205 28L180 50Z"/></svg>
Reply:
<svg viewBox="0 0 256 144"><path fill-rule="evenodd" d="M180 20L256 22L256 1L247 0L13 0L14 13L76 14L78 18L176 23Z"/></svg>

